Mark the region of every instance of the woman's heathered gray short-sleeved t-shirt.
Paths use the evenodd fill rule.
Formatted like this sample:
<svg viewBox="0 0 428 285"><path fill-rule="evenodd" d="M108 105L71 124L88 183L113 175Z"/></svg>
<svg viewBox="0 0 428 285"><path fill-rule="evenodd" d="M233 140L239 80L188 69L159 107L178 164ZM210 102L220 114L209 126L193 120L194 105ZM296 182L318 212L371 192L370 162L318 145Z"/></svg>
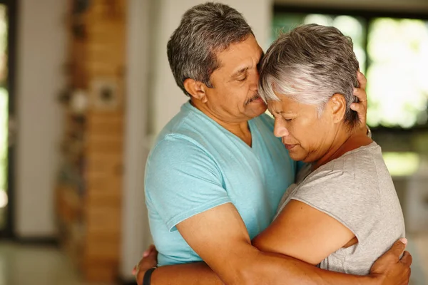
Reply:
<svg viewBox="0 0 428 285"><path fill-rule="evenodd" d="M358 239L321 261L322 269L366 275L374 261L404 237L397 192L376 142L346 152L312 173L307 165L297 184L285 192L278 213L290 199L334 217Z"/></svg>

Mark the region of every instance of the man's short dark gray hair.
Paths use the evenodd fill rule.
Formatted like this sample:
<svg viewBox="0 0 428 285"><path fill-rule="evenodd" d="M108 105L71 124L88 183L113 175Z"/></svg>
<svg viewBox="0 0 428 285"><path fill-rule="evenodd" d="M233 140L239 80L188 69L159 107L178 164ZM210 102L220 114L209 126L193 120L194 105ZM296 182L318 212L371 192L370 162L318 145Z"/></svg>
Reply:
<svg viewBox="0 0 428 285"><path fill-rule="evenodd" d="M208 2L190 8L167 45L168 61L178 87L190 95L183 83L192 78L213 88L210 76L220 66L215 53L252 34L243 15L230 6Z"/></svg>

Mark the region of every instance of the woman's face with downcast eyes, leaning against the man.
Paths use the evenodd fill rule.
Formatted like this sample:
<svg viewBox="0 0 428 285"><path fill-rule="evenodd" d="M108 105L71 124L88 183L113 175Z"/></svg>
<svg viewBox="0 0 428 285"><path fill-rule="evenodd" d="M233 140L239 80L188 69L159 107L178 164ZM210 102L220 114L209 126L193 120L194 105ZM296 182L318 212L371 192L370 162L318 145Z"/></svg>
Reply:
<svg viewBox="0 0 428 285"><path fill-rule="evenodd" d="M319 115L315 105L301 104L285 95L276 95L280 101L267 103L268 110L275 117L275 136L282 138L293 160L319 160L330 150L337 135L330 102Z"/></svg>

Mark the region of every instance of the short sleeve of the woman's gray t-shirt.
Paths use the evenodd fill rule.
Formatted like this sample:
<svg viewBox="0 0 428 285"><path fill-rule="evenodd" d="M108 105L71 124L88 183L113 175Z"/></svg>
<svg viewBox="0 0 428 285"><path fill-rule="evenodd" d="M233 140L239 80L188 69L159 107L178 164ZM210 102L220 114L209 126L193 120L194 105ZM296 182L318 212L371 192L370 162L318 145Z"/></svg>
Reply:
<svg viewBox="0 0 428 285"><path fill-rule="evenodd" d="M317 172L302 182L291 199L337 219L359 240L365 239L376 226L379 189L377 182L365 175L342 170Z"/></svg>

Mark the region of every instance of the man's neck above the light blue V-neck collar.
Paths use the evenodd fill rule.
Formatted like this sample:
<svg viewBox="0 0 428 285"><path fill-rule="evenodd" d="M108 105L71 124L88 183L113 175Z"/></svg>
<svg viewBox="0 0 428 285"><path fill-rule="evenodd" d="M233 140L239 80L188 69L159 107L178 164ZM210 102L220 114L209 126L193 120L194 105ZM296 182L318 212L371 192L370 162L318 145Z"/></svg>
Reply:
<svg viewBox="0 0 428 285"><path fill-rule="evenodd" d="M230 133L233 133L233 135L236 135L251 147L252 138L250 128L248 127L248 120L243 120L241 122L230 122L228 120L222 120L222 118L219 118L218 115L215 115L215 113L211 112L209 108L206 108L205 104L196 100L190 100L190 104L207 115L209 118L213 119L216 123L218 123L218 125L221 125Z"/></svg>

